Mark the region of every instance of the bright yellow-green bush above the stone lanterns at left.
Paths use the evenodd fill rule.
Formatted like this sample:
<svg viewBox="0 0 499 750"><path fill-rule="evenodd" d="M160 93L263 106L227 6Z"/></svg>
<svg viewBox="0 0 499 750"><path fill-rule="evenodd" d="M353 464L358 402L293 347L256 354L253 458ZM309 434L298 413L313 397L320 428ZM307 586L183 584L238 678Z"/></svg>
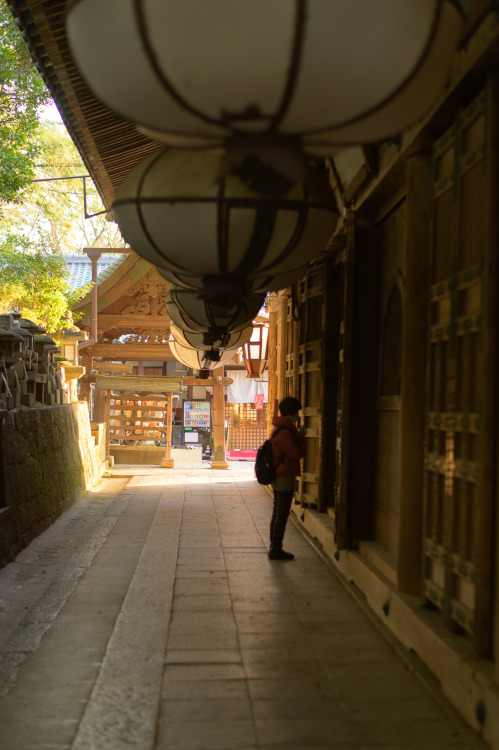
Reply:
<svg viewBox="0 0 499 750"><path fill-rule="evenodd" d="M17 236L0 246L0 312L14 308L47 331L59 329L66 311L83 297L89 287L73 291L67 281L64 258L50 249L32 250L19 245Z"/></svg>

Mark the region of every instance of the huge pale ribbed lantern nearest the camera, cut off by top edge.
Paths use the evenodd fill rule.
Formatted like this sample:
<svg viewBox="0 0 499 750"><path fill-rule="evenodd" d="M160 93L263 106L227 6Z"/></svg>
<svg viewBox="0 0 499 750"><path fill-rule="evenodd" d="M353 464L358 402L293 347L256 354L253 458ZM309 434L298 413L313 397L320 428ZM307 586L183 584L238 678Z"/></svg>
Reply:
<svg viewBox="0 0 499 750"><path fill-rule="evenodd" d="M279 133L331 146L400 132L448 78L457 0L72 0L76 63L170 145Z"/></svg>

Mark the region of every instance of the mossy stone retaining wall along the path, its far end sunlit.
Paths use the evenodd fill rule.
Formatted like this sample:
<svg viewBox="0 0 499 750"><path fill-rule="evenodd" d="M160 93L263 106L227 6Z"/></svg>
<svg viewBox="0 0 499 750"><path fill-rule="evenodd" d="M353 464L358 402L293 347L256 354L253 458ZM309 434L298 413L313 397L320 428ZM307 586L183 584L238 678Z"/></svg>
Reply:
<svg viewBox="0 0 499 750"><path fill-rule="evenodd" d="M101 477L85 402L0 412L0 565Z"/></svg>

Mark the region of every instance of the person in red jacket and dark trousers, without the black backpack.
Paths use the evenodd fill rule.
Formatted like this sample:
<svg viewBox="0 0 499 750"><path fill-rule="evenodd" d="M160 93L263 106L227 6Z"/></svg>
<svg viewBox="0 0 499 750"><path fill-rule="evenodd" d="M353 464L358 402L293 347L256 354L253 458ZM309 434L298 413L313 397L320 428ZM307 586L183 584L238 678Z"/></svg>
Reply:
<svg viewBox="0 0 499 750"><path fill-rule="evenodd" d="M293 396L286 396L279 404L280 417L274 417L272 424L272 453L277 477L272 482L274 509L270 522L271 560L293 560L291 552L282 548L282 540L295 490L295 477L301 473L300 458L305 455L303 430L297 429L300 422L301 403ZM281 428L281 429L279 429Z"/></svg>

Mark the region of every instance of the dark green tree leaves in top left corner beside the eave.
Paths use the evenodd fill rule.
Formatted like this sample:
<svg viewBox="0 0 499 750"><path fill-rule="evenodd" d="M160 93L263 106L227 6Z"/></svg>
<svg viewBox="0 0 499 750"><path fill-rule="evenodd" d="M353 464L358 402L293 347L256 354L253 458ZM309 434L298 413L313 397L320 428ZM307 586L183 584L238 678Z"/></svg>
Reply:
<svg viewBox="0 0 499 750"><path fill-rule="evenodd" d="M0 201L19 200L39 152L39 108L50 95L0 0Z"/></svg>

